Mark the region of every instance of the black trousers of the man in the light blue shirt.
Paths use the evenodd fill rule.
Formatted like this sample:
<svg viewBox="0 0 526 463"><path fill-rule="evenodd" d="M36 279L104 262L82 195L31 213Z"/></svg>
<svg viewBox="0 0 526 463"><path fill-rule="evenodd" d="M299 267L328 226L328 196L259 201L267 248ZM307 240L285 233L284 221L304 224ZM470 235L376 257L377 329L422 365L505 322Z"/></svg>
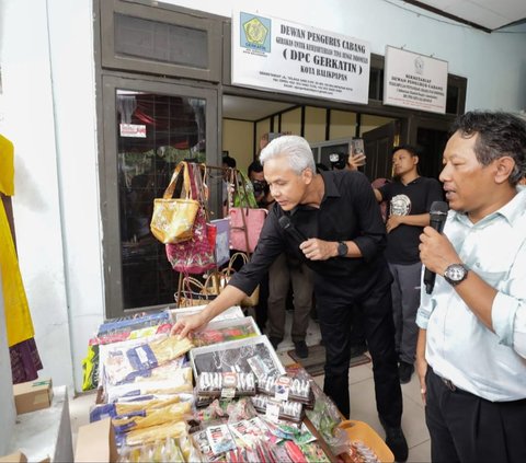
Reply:
<svg viewBox="0 0 526 463"><path fill-rule="evenodd" d="M490 402L451 391L431 367L425 382L433 462L526 462L526 398Z"/></svg>

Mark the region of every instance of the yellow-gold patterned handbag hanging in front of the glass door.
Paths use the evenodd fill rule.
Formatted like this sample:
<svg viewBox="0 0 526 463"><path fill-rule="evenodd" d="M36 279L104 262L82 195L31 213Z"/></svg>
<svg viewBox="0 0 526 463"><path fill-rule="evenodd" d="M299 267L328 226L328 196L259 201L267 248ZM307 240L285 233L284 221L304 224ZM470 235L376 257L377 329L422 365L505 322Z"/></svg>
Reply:
<svg viewBox="0 0 526 463"><path fill-rule="evenodd" d="M185 198L172 198L179 174L183 172ZM178 243L192 238L199 201L191 198L188 164L182 161L173 172L162 198L153 200L150 230L161 243Z"/></svg>

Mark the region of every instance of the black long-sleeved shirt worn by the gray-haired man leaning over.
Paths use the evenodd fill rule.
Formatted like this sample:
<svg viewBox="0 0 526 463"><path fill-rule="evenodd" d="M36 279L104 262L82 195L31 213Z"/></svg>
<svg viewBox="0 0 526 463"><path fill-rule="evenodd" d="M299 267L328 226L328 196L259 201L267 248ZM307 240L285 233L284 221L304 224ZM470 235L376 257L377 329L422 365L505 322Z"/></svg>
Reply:
<svg viewBox="0 0 526 463"><path fill-rule="evenodd" d="M315 271L315 289L320 293L355 297L374 285L389 283L390 273L382 256L386 228L369 181L361 172L322 172L325 190L319 208L298 205L285 212L275 204L249 264L230 280L230 285L250 294L273 261L283 252L304 261ZM309 261L294 236L282 229L278 220L289 215L296 229L307 238L325 241L354 241L363 257L332 257ZM386 274L387 270L387 274ZM327 297L330 297L327 294ZM335 294L334 294L335 297Z"/></svg>

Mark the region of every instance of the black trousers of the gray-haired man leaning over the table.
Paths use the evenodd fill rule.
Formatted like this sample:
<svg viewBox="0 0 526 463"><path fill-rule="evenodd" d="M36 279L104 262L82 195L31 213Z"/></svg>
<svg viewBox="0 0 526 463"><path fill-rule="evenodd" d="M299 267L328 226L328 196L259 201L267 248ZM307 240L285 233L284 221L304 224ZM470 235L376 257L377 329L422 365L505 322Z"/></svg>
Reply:
<svg viewBox="0 0 526 463"><path fill-rule="evenodd" d="M327 283L325 283L327 285ZM375 286L359 300L348 298L339 283L317 291L318 317L325 346L323 392L350 417L348 367L351 361L351 321L356 304L362 309L363 327L373 359L376 408L390 427L400 426L402 392L395 351L390 281Z"/></svg>

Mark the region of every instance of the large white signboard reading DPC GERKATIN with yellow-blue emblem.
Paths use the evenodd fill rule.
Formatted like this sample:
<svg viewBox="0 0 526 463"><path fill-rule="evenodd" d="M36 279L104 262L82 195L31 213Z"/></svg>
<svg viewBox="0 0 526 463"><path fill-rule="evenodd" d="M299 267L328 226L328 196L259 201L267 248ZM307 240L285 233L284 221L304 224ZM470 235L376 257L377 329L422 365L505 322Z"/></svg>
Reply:
<svg viewBox="0 0 526 463"><path fill-rule="evenodd" d="M368 42L270 15L233 13L233 84L367 104L369 67Z"/></svg>

